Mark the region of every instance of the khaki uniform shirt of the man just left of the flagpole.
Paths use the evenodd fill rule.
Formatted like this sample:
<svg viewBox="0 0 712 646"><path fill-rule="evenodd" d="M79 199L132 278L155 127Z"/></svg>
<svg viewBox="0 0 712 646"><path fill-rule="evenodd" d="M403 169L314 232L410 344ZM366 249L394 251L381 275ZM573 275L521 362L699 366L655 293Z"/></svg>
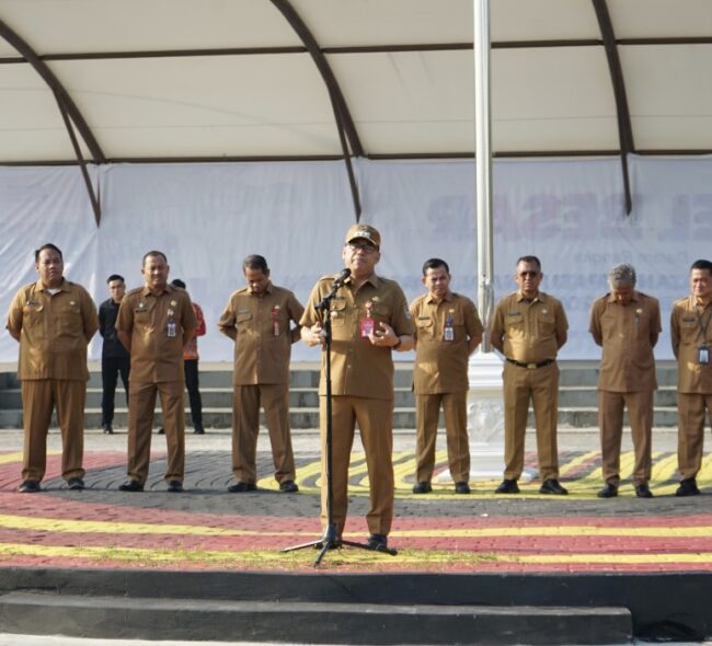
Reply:
<svg viewBox="0 0 712 646"><path fill-rule="evenodd" d="M416 394L455 393L468 390L469 341L482 334L474 303L458 293L448 293L439 303L429 293L411 303L415 323ZM447 318L451 316L453 338L445 341Z"/></svg>

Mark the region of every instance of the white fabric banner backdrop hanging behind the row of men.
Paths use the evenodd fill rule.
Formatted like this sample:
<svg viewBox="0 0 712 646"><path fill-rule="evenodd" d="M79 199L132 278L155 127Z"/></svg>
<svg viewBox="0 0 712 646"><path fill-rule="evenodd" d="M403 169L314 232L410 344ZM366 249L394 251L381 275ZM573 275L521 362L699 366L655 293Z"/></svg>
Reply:
<svg viewBox="0 0 712 646"><path fill-rule="evenodd" d="M688 268L710 255L712 159L631 158L636 208L624 215L620 165L610 160L519 160L494 165L495 291L514 288L515 261L540 256L542 289L561 298L570 342L563 358L598 357L587 333L593 299L606 292L606 272L630 262L641 290L661 299L666 334L658 358L670 358L667 316L688 291ZM430 256L450 263L453 288L476 298L472 162L359 160L361 221L383 237L379 273L406 296L422 286ZM92 169L101 194L97 228L81 175L72 168L0 169L0 310L35 278L34 249L62 249L66 275L100 301L105 278L123 274L140 285L143 253L168 254L171 276L183 278L208 320L200 339L207 360L231 360L231 342L216 321L242 286L241 261L265 255L276 284L306 300L315 279L341 268L343 235L353 208L342 162L104 165ZM96 357L94 343L92 356ZM317 359L295 346L294 358ZM407 358L400 355L399 358ZM0 335L0 360L16 359L16 344Z"/></svg>

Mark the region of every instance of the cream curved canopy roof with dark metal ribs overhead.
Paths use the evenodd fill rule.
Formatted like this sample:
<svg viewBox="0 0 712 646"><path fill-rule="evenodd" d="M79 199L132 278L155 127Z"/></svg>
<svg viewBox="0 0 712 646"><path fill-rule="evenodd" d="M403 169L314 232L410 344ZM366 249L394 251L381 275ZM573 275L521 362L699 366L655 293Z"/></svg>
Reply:
<svg viewBox="0 0 712 646"><path fill-rule="evenodd" d="M712 151L709 0L491 15L495 155ZM2 164L474 150L472 0L0 0L0 36Z"/></svg>

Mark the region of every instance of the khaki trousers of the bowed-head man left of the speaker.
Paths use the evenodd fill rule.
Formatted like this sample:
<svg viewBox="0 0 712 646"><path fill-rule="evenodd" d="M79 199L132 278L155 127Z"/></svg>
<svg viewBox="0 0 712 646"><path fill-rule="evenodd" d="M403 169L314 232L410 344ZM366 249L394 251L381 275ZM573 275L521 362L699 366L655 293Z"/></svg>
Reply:
<svg viewBox="0 0 712 646"><path fill-rule="evenodd" d="M232 390L232 473L238 482L257 481L260 403L269 431L275 480L295 480L295 454L289 431L289 384L236 385Z"/></svg>

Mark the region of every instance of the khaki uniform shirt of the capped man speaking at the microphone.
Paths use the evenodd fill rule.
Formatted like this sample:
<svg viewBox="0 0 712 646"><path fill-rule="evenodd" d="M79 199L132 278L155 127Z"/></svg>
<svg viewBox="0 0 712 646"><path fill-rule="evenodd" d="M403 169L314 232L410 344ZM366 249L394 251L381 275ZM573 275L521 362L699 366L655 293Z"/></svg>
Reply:
<svg viewBox="0 0 712 646"><path fill-rule="evenodd" d="M311 327L322 320L315 307L331 292L336 276L324 276L314 285L301 318L301 325ZM413 335L415 327L407 309L407 302L400 285L394 280L380 278L376 274L355 290L351 279L338 290L331 302L332 322L332 393L371 397L393 399L392 350L371 344L360 336L360 322L366 318L366 303L370 303L375 330L379 323L388 323L397 336ZM322 353L322 380L320 394L326 394L324 377L325 353Z"/></svg>

